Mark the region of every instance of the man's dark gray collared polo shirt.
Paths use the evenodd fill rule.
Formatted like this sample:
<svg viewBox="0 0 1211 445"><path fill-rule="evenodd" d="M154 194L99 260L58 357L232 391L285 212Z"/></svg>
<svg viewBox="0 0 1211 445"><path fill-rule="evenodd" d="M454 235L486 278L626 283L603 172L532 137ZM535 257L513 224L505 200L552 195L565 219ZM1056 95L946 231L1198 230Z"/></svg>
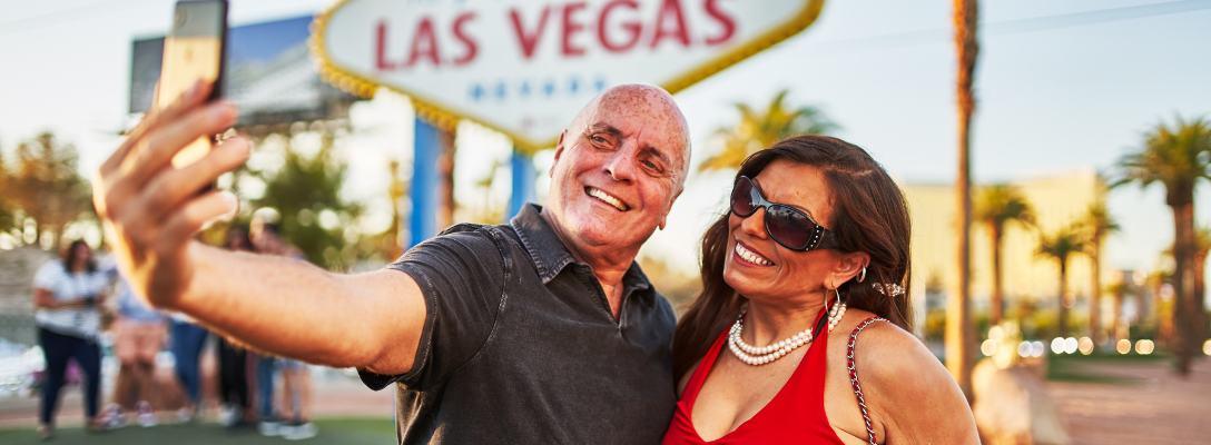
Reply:
<svg viewBox="0 0 1211 445"><path fill-rule="evenodd" d="M395 383L400 444L659 444L677 403L672 307L637 264L615 320L592 268L524 206L509 225L459 224L389 267L429 318Z"/></svg>

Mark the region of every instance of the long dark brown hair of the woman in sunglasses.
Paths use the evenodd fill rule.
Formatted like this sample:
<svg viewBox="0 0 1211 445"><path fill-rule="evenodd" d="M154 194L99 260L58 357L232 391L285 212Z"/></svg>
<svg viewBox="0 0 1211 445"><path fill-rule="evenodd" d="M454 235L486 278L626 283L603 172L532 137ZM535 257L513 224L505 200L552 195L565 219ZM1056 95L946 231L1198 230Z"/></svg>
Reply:
<svg viewBox="0 0 1211 445"><path fill-rule="evenodd" d="M862 283L859 284L855 277L838 288L849 307L869 311L911 330L911 221L903 192L888 172L854 144L822 135L800 135L748 156L736 172L736 179L741 175L756 178L776 160L813 166L823 173L833 191L833 216L822 224L837 235L837 249L871 255ZM730 207L702 236L702 293L690 304L673 333L673 376L677 378L706 356L748 301L723 279L729 216ZM900 284L903 293L884 295L871 283Z"/></svg>

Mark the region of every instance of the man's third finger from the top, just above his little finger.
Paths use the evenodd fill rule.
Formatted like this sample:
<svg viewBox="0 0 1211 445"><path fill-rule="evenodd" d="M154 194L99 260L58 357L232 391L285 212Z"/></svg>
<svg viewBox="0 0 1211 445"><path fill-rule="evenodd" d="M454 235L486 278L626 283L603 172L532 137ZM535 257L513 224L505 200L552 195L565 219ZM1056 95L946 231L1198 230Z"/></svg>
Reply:
<svg viewBox="0 0 1211 445"><path fill-rule="evenodd" d="M159 215L173 212L219 175L243 164L248 160L248 150L247 139L231 138L214 146L200 161L185 168L166 171L148 183L143 191L140 213L156 220Z"/></svg>

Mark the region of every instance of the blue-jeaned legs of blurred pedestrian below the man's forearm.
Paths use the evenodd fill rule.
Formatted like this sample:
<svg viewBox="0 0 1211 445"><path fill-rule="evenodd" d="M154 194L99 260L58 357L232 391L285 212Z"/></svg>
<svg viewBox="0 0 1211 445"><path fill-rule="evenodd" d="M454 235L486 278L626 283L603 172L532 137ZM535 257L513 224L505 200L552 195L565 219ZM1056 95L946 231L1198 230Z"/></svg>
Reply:
<svg viewBox="0 0 1211 445"><path fill-rule="evenodd" d="M190 423L200 420L205 411L199 358L210 331L197 325L193 318L179 313L172 314L170 328L172 330L170 348L177 362L177 378L185 389L185 405L177 410L177 421Z"/></svg>

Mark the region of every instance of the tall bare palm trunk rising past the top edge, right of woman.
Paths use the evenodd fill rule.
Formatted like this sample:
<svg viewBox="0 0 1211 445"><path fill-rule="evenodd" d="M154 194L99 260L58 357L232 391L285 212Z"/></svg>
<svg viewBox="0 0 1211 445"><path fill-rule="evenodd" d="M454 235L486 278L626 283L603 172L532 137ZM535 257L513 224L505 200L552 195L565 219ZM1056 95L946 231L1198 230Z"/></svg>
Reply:
<svg viewBox="0 0 1211 445"><path fill-rule="evenodd" d="M958 289L946 305L946 368L971 401L971 366L975 336L971 331L971 115L976 98L971 92L976 75L980 42L977 0L954 0L954 46L958 52L959 174L955 184L958 215Z"/></svg>

